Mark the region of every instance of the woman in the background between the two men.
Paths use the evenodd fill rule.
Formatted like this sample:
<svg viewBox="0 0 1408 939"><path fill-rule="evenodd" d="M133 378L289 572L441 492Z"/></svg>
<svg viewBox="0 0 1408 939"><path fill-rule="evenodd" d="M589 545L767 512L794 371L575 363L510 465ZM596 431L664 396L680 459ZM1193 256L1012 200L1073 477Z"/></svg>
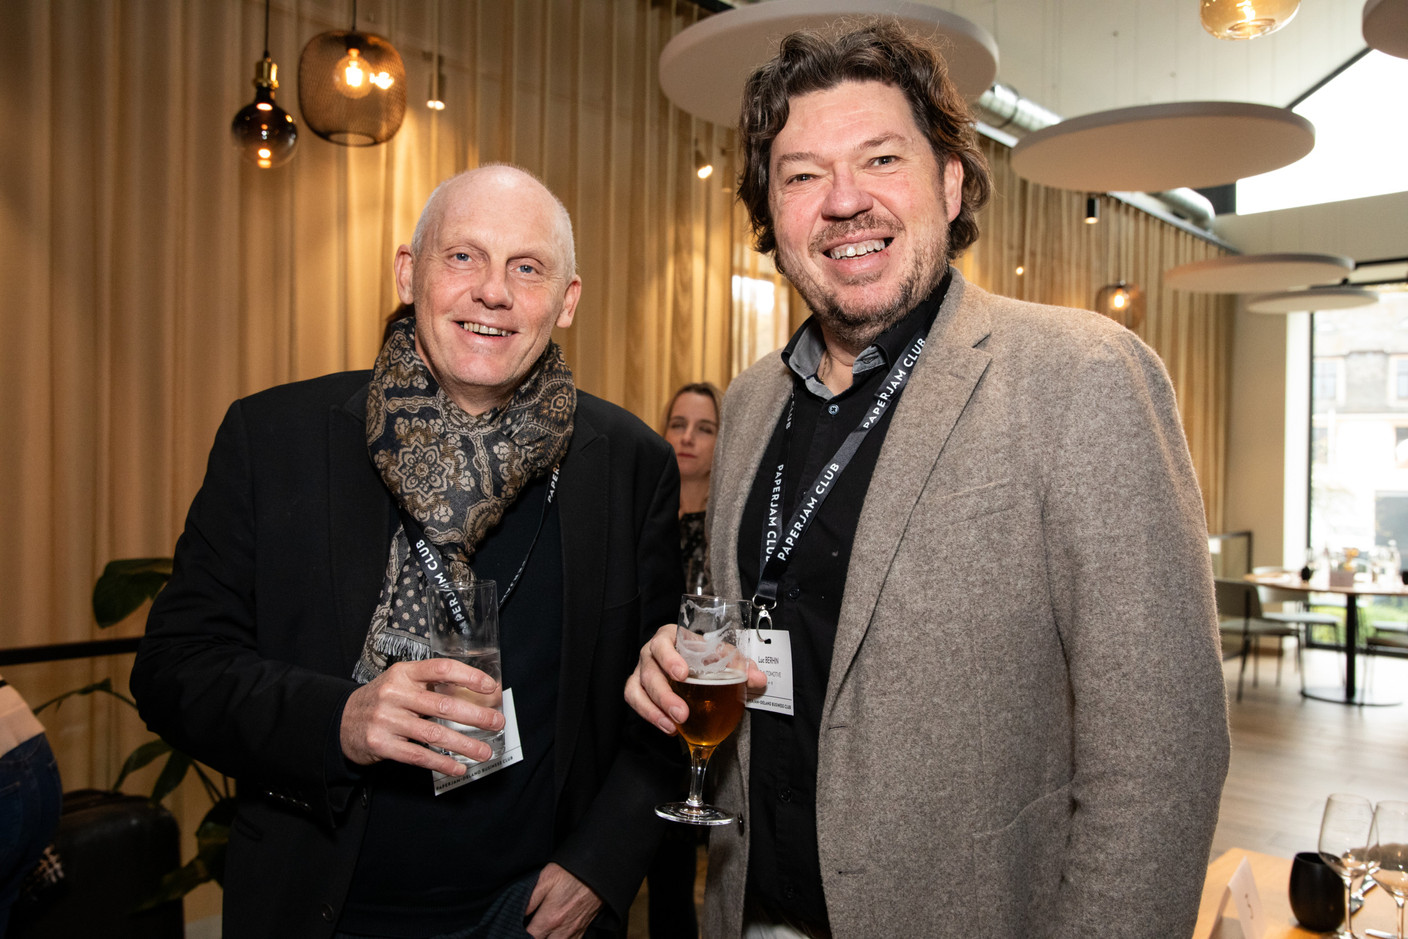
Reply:
<svg viewBox="0 0 1408 939"><path fill-rule="evenodd" d="M665 412L665 439L674 448L680 466L680 553L690 593L710 591L704 510L708 507L721 397L708 382L694 382L674 393Z"/></svg>

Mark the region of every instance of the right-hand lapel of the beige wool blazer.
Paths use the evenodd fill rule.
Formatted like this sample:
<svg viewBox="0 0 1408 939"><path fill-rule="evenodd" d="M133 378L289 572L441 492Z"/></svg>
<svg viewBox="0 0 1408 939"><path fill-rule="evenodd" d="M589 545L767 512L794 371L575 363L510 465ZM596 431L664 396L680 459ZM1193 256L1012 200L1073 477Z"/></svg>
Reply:
<svg viewBox="0 0 1408 939"><path fill-rule="evenodd" d="M987 370L991 356L976 348L990 332L980 297L980 290L953 273L880 448L846 570L824 712L835 705L841 683L870 628L880 590L929 473Z"/></svg>

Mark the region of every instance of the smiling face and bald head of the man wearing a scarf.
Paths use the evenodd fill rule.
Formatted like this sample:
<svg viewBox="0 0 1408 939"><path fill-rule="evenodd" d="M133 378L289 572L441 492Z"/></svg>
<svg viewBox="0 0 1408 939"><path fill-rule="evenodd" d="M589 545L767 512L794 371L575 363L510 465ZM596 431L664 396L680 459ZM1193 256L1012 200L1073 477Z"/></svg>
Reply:
<svg viewBox="0 0 1408 939"><path fill-rule="evenodd" d="M420 251L396 251L397 291L415 303L415 351L431 374L483 414L513 396L552 328L572 325L572 227L552 193L507 166L465 173L425 211Z"/></svg>

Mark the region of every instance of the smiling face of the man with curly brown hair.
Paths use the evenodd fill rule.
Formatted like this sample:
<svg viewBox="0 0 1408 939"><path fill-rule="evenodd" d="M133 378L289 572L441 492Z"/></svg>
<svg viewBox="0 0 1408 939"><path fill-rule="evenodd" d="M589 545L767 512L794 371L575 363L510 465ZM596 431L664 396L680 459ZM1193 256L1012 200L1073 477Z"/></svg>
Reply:
<svg viewBox="0 0 1408 939"><path fill-rule="evenodd" d="M842 82L788 101L772 144L767 204L777 266L852 353L942 280L963 168L941 168L904 94Z"/></svg>

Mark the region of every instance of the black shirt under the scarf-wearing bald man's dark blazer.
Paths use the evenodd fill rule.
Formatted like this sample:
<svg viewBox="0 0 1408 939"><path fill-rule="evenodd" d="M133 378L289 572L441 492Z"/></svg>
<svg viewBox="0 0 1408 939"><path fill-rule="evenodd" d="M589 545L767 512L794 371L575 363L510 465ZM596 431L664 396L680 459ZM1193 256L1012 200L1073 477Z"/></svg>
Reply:
<svg viewBox="0 0 1408 939"><path fill-rule="evenodd" d="M410 938L463 929L504 887L551 860L562 528L556 503L543 519L546 493L546 479L525 489L470 562L498 584L504 687L514 693L524 760L442 795L425 769L387 762L365 770L372 802L338 921L344 932ZM541 519L528 566L504 603Z"/></svg>

